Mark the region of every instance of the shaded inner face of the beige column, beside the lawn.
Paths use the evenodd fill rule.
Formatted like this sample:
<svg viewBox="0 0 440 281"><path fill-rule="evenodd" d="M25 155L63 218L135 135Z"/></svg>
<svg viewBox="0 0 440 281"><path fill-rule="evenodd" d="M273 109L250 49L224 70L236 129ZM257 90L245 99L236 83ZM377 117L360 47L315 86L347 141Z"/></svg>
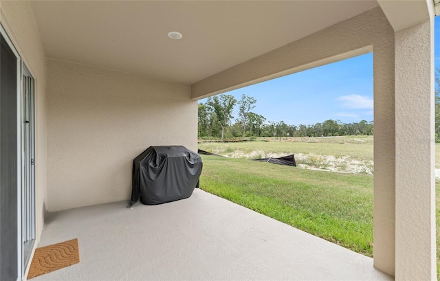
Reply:
<svg viewBox="0 0 440 281"><path fill-rule="evenodd" d="M395 273L394 32L373 47L374 61L374 267Z"/></svg>

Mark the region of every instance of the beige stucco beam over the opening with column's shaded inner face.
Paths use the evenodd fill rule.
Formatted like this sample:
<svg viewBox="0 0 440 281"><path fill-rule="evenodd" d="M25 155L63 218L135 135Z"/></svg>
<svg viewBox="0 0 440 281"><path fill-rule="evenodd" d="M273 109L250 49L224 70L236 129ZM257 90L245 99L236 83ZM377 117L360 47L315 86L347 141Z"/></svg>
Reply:
<svg viewBox="0 0 440 281"><path fill-rule="evenodd" d="M395 268L394 30L380 8L316 32L192 85L192 98L374 53L374 265Z"/></svg>

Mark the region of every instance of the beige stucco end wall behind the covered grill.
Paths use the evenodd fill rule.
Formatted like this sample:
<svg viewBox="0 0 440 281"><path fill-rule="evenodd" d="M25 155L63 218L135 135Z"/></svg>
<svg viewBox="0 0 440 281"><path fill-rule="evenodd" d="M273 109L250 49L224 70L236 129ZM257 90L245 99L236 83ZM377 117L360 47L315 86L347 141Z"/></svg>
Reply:
<svg viewBox="0 0 440 281"><path fill-rule="evenodd" d="M197 151L190 87L47 60L49 211L128 200L133 158L148 146Z"/></svg>

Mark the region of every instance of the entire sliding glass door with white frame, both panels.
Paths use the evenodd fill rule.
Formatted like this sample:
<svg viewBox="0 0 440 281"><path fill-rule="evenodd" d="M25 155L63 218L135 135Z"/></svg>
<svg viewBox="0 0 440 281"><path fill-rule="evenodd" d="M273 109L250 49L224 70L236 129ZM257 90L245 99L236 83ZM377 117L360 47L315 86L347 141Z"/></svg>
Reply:
<svg viewBox="0 0 440 281"><path fill-rule="evenodd" d="M35 239L34 78L0 25L0 280L22 280Z"/></svg>

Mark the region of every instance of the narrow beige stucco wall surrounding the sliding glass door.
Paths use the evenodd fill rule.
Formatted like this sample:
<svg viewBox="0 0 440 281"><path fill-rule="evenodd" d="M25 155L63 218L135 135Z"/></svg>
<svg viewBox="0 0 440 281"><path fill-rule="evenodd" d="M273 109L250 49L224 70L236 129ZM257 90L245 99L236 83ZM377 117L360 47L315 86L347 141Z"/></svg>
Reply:
<svg viewBox="0 0 440 281"><path fill-rule="evenodd" d="M28 1L0 1L0 21L35 79L36 238L46 205L46 69L43 45Z"/></svg>

